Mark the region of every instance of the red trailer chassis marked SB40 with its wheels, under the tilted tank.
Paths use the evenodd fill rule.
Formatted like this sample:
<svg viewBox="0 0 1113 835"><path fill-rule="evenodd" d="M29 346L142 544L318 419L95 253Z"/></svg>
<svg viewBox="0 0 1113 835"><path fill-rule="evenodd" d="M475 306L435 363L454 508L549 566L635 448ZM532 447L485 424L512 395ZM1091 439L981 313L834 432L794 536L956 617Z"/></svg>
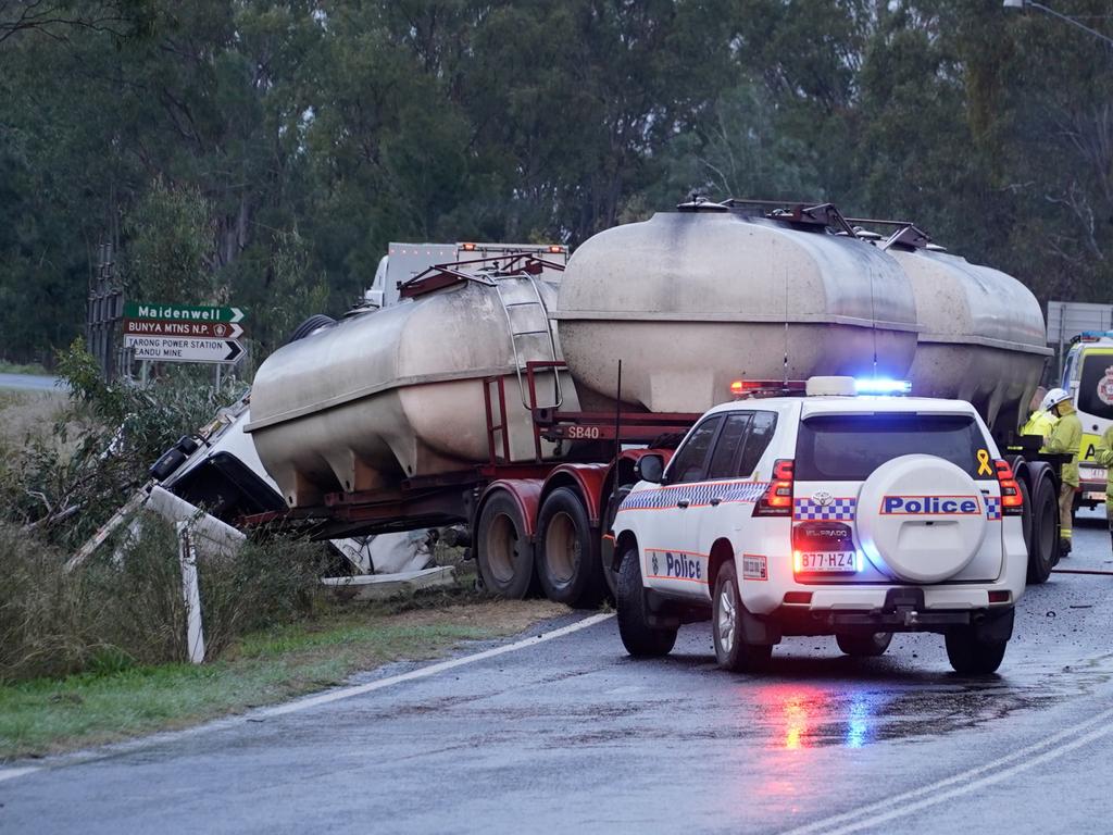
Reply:
<svg viewBox="0 0 1113 835"><path fill-rule="evenodd" d="M491 376L482 381L486 463L411 478L395 490L328 493L318 505L257 513L243 522L279 525L313 539L464 524L470 557L487 590L508 598L540 592L556 602L595 607L613 593L613 543L603 533L636 481L636 462L648 453L668 460L700 415L538 406L539 377L564 367L559 361L525 364L533 462L509 462L506 379ZM544 461L542 442L560 443L570 452L561 461ZM623 444L642 448L621 450Z"/></svg>

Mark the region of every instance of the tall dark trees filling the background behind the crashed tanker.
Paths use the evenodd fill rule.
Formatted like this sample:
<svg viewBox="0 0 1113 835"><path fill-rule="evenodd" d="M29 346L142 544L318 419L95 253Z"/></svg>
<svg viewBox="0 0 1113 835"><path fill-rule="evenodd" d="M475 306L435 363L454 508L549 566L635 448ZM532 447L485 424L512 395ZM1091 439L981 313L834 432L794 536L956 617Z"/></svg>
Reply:
<svg viewBox="0 0 1113 835"><path fill-rule="evenodd" d="M0 354L71 341L106 240L132 296L235 302L265 354L390 240L575 245L692 188L1102 301L1111 91L1104 45L998 0L0 3Z"/></svg>

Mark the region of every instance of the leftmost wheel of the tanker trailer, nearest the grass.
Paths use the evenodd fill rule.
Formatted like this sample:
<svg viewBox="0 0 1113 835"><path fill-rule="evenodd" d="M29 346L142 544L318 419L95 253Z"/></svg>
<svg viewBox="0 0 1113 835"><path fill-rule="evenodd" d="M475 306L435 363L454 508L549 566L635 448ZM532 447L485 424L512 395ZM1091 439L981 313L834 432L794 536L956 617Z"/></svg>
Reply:
<svg viewBox="0 0 1113 835"><path fill-rule="evenodd" d="M525 520L510 495L491 497L476 525L476 562L487 591L521 600L533 579L533 549L525 536Z"/></svg>

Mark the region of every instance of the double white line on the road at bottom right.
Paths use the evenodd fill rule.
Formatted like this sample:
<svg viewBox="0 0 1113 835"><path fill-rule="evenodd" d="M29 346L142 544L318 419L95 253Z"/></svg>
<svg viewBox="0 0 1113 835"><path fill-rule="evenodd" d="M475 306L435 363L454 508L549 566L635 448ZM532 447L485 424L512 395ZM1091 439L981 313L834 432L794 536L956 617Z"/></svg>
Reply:
<svg viewBox="0 0 1113 835"><path fill-rule="evenodd" d="M1020 748L1012 754L1006 754L1004 757L902 795L894 795L878 803L789 829L782 835L810 835L811 833L845 835L846 833L858 832L869 826L877 826L878 824L909 815L928 806L976 792L979 788L999 783L1021 772L1056 759L1075 748L1081 748L1095 739L1113 733L1113 725L1107 724L1110 719L1113 719L1113 709L1103 710L1084 723L1064 728L1057 734L1052 734L1038 743ZM1099 727L1092 729L1094 726ZM1044 750L1045 748L1050 750ZM1021 762L1009 765L1017 759Z"/></svg>

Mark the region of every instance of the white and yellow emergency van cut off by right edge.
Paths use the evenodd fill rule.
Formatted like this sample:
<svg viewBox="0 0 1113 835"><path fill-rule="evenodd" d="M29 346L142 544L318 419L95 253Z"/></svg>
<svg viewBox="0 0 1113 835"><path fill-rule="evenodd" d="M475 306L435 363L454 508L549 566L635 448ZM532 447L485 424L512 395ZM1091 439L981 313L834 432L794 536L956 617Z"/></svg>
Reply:
<svg viewBox="0 0 1113 835"><path fill-rule="evenodd" d="M1106 472L1094 461L1094 453L1113 423L1113 333L1086 331L1072 340L1062 387L1071 392L1082 422L1075 507L1093 508L1105 501Z"/></svg>

